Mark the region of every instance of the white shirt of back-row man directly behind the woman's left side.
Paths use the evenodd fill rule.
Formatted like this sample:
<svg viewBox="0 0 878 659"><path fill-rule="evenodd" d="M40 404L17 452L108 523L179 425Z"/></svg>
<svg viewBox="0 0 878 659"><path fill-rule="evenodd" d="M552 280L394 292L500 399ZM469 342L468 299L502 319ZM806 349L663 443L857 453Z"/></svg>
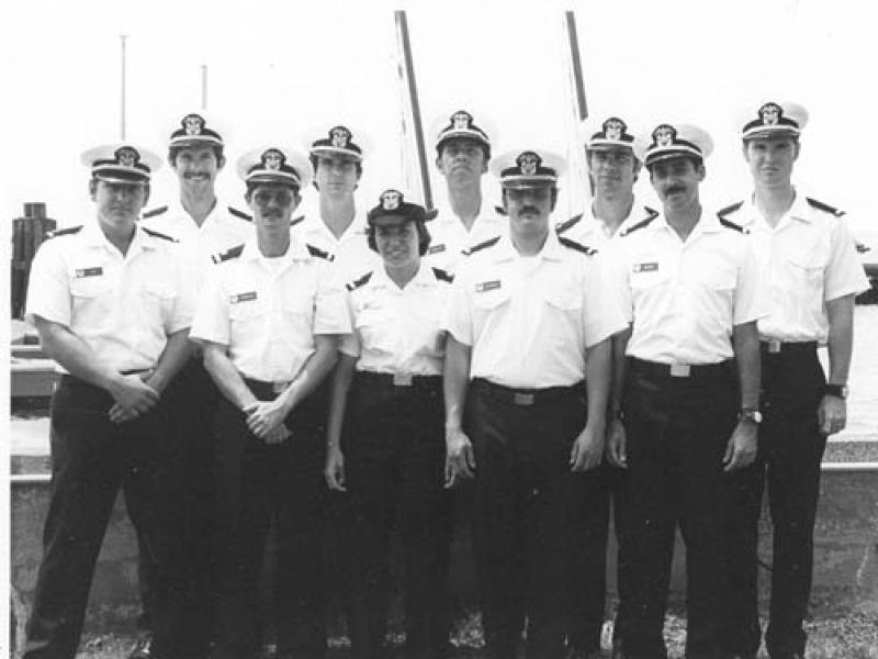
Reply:
<svg viewBox="0 0 878 659"><path fill-rule="evenodd" d="M381 266L381 257L369 248L365 214L357 212L353 222L336 237L319 214L305 215L292 227L293 239L325 252L340 281L352 281Z"/></svg>

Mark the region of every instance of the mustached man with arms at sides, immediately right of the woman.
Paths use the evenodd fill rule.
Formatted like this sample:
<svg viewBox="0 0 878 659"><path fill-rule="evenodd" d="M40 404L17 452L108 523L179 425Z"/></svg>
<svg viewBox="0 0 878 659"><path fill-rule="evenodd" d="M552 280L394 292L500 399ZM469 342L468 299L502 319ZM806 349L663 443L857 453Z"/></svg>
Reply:
<svg viewBox="0 0 878 659"><path fill-rule="evenodd" d="M610 337L627 327L620 287L549 225L562 166L533 149L492 164L509 235L472 249L448 305L447 481L474 478L492 659L516 656L525 619L528 658L566 651L575 492L604 455Z"/></svg>

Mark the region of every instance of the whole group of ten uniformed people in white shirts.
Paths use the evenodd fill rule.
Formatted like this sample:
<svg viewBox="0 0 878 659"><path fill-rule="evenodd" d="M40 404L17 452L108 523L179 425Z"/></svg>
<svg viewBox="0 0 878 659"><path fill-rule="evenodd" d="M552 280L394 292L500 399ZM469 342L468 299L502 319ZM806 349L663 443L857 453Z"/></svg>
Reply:
<svg viewBox="0 0 878 659"><path fill-rule="evenodd" d="M345 125L307 154L241 156L249 213L216 198L224 141L203 114L170 136L180 197L153 211L156 156L83 154L95 217L41 247L27 297L63 375L25 656L75 656L122 488L140 549L133 658L251 659L269 618L280 657L323 656L330 504L353 655L387 654L398 526L406 654L443 657L449 492L472 480L488 657L515 657L522 635L530 658L601 656L612 498L612 657L666 657L679 527L686 656L753 658L767 480L765 643L803 657L820 460L845 425L853 298L867 288L842 213L792 185L807 119L795 103L747 110L753 194L719 211L699 199L705 131L635 137L622 116L592 121L592 202L558 222L563 161L539 147L492 157L465 110L435 136L438 211L396 188L361 211L368 148ZM482 197L488 168L497 209ZM634 198L642 169L661 210ZM312 182L314 212L294 217Z"/></svg>

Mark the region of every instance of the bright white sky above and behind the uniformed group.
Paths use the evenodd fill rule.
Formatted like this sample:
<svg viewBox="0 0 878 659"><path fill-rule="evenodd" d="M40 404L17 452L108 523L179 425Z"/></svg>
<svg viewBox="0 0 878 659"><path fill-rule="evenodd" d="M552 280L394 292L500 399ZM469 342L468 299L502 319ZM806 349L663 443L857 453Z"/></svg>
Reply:
<svg viewBox="0 0 878 659"><path fill-rule="evenodd" d="M689 121L711 133L706 203L724 205L748 188L741 118L767 100L795 100L811 114L797 179L809 196L847 210L855 227L869 225L878 150L868 130L878 100L870 4L30 0L0 22L0 216L21 215L26 201L45 201L60 225L93 212L79 154L121 136L122 34L127 139L164 155L180 118L202 107L206 65L206 110L226 127L232 165L218 187L239 206L240 153L264 142L299 147L309 130L335 123L365 132L373 147L361 205L405 183L394 9L407 11L428 154L435 120L464 107L496 129L495 153L537 146L569 155L576 148L562 32L569 9L594 118L622 114L635 130ZM431 169L441 202L443 185ZM649 201L641 178L638 192ZM583 181L567 176L561 186L567 196L559 213L576 212ZM488 202L498 201L489 176L485 190ZM166 166L149 205L176 194Z"/></svg>

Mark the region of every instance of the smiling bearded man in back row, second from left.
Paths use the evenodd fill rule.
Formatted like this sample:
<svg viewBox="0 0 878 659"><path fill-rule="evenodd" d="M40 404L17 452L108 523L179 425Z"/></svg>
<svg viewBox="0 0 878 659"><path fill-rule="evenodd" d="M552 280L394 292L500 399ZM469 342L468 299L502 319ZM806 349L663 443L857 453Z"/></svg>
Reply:
<svg viewBox="0 0 878 659"><path fill-rule="evenodd" d="M180 183L179 197L167 205L146 211L140 225L169 235L180 243L187 255L196 290L201 288L211 257L239 245L254 233L250 216L236 208L219 202L216 196L216 177L226 158L223 136L203 113L185 114L170 134L168 163ZM173 417L173 432L179 436L178 460L180 474L185 482L185 511L189 534L182 541L189 549L192 571L190 587L195 604L192 606L192 657L203 657L207 651L212 544L210 505L212 501L210 476L210 446L213 414L219 392L204 370L200 355L192 355L166 395L169 413ZM149 659L151 638L153 566L149 551L138 536L140 603L143 614L137 624L140 636L128 659Z"/></svg>

